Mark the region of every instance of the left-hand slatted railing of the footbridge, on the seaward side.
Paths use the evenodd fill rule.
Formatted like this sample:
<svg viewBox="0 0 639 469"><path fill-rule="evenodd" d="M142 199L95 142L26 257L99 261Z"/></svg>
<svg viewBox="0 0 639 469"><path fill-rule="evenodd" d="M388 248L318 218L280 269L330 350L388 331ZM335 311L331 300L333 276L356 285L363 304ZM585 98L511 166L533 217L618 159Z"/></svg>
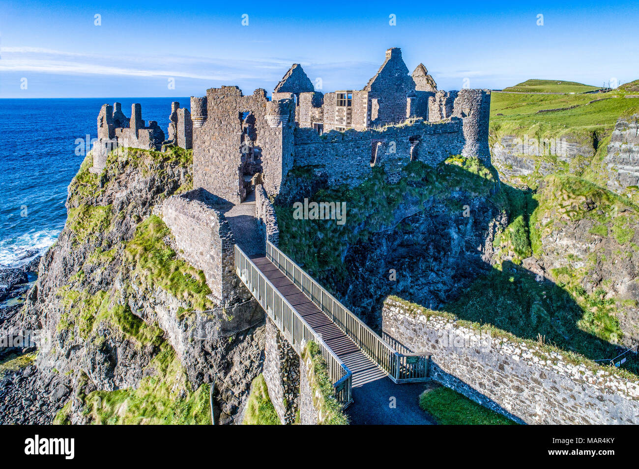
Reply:
<svg viewBox="0 0 639 469"><path fill-rule="evenodd" d="M353 401L350 369L326 345L321 336L313 331L311 326L300 316L300 313L273 286L237 244L235 245L235 271L298 354L302 354L302 348L307 341L314 341L318 344L327 363L328 376L335 388L335 398L343 406L348 406Z"/></svg>

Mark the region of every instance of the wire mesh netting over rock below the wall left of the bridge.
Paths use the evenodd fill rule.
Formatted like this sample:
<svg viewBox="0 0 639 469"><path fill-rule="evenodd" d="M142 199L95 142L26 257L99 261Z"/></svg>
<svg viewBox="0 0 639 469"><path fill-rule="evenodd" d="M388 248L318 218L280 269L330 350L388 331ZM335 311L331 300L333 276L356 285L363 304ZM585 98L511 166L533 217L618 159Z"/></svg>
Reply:
<svg viewBox="0 0 639 469"><path fill-rule="evenodd" d="M197 313L189 337L215 340L235 336L264 319L264 311L255 299L233 306L219 306Z"/></svg>

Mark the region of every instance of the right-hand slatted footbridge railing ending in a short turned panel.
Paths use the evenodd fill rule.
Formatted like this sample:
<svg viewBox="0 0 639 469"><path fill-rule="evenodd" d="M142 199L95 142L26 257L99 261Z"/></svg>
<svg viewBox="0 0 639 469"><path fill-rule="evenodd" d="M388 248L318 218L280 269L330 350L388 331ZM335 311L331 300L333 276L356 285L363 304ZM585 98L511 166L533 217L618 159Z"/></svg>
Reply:
<svg viewBox="0 0 639 469"><path fill-rule="evenodd" d="M388 373L390 379L396 383L427 379L429 355L397 352L270 241L266 241L266 258L284 272L364 354Z"/></svg>

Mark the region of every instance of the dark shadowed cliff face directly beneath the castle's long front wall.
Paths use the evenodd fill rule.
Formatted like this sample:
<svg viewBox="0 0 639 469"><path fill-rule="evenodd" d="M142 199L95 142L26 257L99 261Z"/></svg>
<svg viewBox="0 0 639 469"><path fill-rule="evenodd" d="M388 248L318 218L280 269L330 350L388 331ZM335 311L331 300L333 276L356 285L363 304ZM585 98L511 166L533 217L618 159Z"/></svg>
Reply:
<svg viewBox="0 0 639 469"><path fill-rule="evenodd" d="M450 158L436 168L413 161L399 181L374 172L348 190L319 188L316 173L289 173L276 207L280 248L373 327L386 295L438 308L491 270L507 202L478 160ZM305 197L346 202L344 225L296 220L292 204Z"/></svg>

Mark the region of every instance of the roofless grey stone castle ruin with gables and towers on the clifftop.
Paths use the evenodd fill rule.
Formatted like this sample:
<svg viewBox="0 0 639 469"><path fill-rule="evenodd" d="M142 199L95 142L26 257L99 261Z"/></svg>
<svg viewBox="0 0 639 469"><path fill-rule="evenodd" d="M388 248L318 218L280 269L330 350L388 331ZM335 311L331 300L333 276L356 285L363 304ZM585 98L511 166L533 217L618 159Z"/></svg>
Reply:
<svg viewBox="0 0 639 469"><path fill-rule="evenodd" d="M316 91L293 64L272 93L245 96L236 86L190 98L190 111L171 105L167 139L155 121L144 125L134 104L130 119L119 103L98 115L95 171L114 147L193 149L194 188L239 204L258 180L277 195L293 165L313 165L330 182L357 185L381 167L390 175L420 160L436 165L461 154L489 163L490 92L440 91L426 67L409 75L399 48L362 90Z"/></svg>

